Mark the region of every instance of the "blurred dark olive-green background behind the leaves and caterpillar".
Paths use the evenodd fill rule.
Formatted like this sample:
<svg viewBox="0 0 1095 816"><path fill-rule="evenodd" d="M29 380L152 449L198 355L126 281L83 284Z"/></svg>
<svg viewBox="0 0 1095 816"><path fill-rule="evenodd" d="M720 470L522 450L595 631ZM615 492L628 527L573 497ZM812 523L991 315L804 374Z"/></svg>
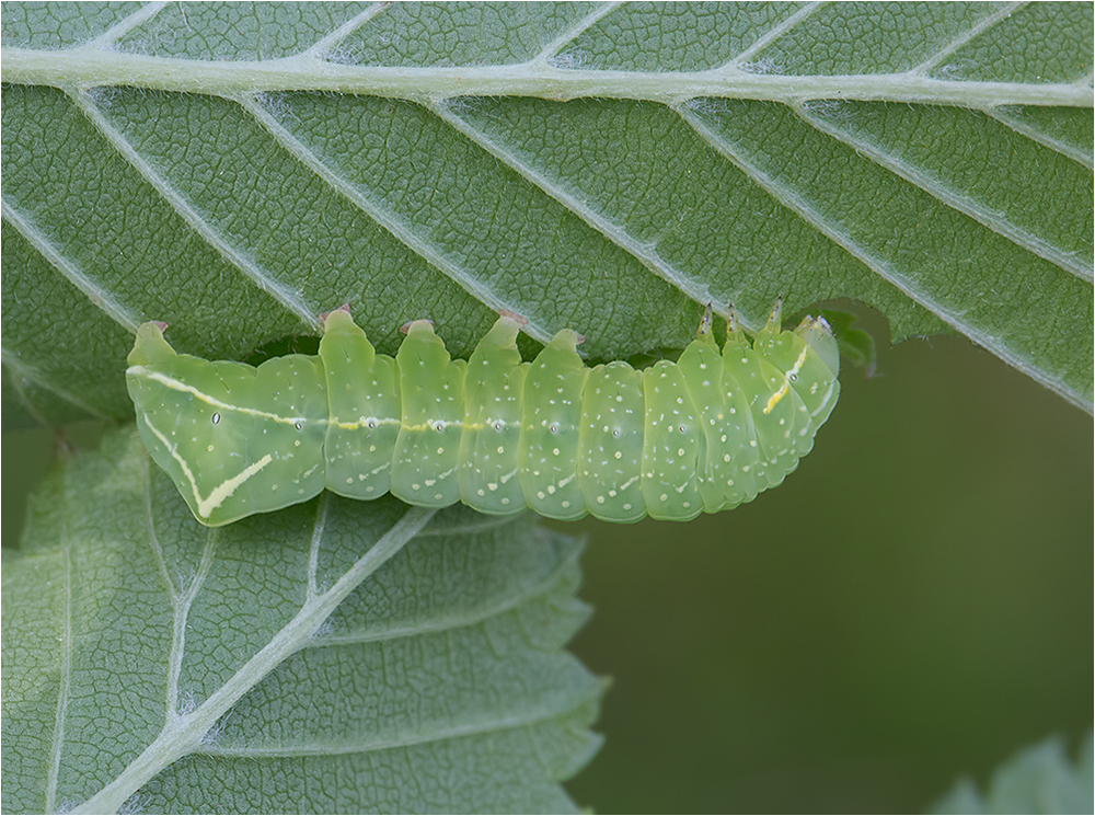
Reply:
<svg viewBox="0 0 1095 816"><path fill-rule="evenodd" d="M580 805L915 813L1091 727L1092 418L965 340L841 381L814 452L752 504L557 525L589 536L573 650L614 680ZM55 435L3 441L10 547Z"/></svg>

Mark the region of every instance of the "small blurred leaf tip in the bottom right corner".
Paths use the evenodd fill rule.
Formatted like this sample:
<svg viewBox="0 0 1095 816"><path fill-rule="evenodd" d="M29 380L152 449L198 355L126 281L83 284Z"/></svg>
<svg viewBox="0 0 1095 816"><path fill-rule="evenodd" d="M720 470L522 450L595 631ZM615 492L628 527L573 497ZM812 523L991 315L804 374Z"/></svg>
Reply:
<svg viewBox="0 0 1095 816"><path fill-rule="evenodd" d="M1073 763L1060 737L1019 751L992 775L982 795L963 780L932 813L1091 813L1095 808L1095 758L1087 734Z"/></svg>

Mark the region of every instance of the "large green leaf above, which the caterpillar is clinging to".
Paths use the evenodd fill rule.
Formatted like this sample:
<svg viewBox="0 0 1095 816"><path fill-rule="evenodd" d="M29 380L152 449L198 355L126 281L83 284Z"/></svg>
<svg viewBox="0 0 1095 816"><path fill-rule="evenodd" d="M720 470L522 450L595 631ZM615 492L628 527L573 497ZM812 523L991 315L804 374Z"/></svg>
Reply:
<svg viewBox="0 0 1095 816"><path fill-rule="evenodd" d="M1092 410L1088 3L3 7L5 427L127 417L145 319L349 302L592 358L835 297ZM526 353L535 348L528 343Z"/></svg>

